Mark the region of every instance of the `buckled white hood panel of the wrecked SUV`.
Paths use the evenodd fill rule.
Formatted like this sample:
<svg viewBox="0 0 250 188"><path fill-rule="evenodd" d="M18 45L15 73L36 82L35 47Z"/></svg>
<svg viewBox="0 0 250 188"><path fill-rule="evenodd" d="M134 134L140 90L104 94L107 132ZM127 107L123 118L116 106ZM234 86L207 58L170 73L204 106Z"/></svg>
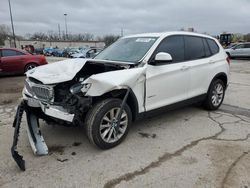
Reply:
<svg viewBox="0 0 250 188"><path fill-rule="evenodd" d="M36 67L26 73L44 84L56 84L72 80L89 59L67 59Z"/></svg>

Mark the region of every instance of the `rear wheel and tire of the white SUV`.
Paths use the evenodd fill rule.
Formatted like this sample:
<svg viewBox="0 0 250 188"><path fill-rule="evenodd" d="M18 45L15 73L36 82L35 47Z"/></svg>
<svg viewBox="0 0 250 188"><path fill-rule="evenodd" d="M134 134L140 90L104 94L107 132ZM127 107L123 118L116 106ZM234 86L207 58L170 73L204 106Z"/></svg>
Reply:
<svg viewBox="0 0 250 188"><path fill-rule="evenodd" d="M217 110L223 102L225 96L225 84L222 80L216 79L209 86L204 107L207 110Z"/></svg>

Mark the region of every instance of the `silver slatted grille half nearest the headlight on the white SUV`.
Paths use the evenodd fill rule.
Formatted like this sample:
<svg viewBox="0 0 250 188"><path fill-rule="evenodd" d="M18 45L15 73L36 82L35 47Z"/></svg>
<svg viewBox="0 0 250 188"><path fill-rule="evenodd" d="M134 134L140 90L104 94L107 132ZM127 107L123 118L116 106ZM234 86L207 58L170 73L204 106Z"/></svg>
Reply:
<svg viewBox="0 0 250 188"><path fill-rule="evenodd" d="M35 85L32 86L32 90L38 99L44 101L51 101L54 97L54 90L49 86Z"/></svg>

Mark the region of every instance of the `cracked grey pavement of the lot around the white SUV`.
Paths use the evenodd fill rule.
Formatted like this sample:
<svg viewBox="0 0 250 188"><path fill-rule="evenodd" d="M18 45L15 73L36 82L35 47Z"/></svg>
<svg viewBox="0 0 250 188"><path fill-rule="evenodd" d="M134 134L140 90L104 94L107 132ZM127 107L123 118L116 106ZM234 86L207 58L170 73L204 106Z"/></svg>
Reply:
<svg viewBox="0 0 250 188"><path fill-rule="evenodd" d="M34 156L25 131L21 172L10 156L24 77L0 78L0 187L250 187L250 61L231 63L220 110L186 107L133 124L118 147L93 147L83 128L41 122L50 154Z"/></svg>

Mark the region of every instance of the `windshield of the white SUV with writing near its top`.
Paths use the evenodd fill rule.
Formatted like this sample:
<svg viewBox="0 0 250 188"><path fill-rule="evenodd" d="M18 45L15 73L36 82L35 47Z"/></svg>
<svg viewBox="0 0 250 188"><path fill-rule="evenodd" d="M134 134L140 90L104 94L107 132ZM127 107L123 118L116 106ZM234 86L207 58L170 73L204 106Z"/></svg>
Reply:
<svg viewBox="0 0 250 188"><path fill-rule="evenodd" d="M122 38L99 53L95 59L139 62L156 41L157 37Z"/></svg>

